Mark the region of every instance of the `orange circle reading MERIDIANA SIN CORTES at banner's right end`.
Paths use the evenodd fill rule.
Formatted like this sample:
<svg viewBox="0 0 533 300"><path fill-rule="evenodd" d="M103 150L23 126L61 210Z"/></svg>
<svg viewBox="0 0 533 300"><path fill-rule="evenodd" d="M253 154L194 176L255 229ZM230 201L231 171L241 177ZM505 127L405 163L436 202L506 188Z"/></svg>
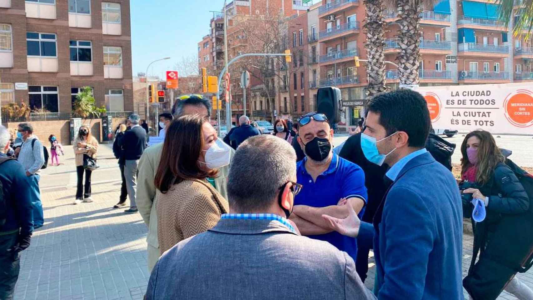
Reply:
<svg viewBox="0 0 533 300"><path fill-rule="evenodd" d="M505 117L516 127L533 125L533 92L518 90L509 94L503 103Z"/></svg>

